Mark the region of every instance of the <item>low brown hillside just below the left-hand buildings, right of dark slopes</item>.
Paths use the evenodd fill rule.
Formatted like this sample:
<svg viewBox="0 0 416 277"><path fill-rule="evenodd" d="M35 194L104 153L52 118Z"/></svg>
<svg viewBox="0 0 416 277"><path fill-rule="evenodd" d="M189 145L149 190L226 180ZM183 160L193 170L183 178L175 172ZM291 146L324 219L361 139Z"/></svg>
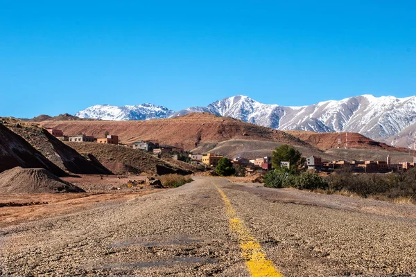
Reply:
<svg viewBox="0 0 416 277"><path fill-rule="evenodd" d="M162 159L153 157L147 152L123 145L101 143L67 143L67 145L82 154L94 155L103 166L116 174L126 172L140 174L146 172L158 175L167 173L187 175L192 173L189 168L175 166Z"/></svg>

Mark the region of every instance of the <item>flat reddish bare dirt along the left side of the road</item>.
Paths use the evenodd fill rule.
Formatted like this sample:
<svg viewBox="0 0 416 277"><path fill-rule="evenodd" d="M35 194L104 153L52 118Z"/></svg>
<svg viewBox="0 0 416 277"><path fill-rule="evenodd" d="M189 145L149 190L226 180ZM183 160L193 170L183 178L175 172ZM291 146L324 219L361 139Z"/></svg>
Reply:
<svg viewBox="0 0 416 277"><path fill-rule="evenodd" d="M128 188L129 181L144 181L145 176L80 175L62 179L87 193L0 194L0 227L85 211L103 204L121 204L166 190L146 185Z"/></svg>

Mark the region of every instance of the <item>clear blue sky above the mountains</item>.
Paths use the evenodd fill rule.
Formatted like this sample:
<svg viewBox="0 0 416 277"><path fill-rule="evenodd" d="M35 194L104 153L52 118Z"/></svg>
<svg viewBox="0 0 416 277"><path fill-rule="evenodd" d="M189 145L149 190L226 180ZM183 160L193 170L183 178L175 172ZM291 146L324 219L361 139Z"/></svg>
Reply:
<svg viewBox="0 0 416 277"><path fill-rule="evenodd" d="M0 0L0 116L415 87L416 1Z"/></svg>

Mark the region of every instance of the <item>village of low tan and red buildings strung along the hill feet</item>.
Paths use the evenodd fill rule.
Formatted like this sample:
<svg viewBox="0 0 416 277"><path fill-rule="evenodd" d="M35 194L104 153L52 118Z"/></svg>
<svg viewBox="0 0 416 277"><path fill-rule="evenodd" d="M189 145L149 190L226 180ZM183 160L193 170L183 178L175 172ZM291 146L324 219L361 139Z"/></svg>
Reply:
<svg viewBox="0 0 416 277"><path fill-rule="evenodd" d="M105 143L119 145L119 136L107 134L105 132L104 138L96 138L94 136L87 136L85 134L78 134L73 136L66 136L64 132L59 129L46 128L49 134L52 134L60 141L67 142L89 142L89 143ZM128 145L124 145L129 147ZM215 168L218 161L223 158L222 155L214 153L191 153L186 152L184 148L173 145L153 143L152 141L139 140L131 145L135 150L144 150L155 157L169 157L174 160L186 161L194 165L205 166L205 168ZM246 159L244 157L234 157L230 160L234 165L239 165L244 168L247 175L257 172L257 170L268 171L272 170L271 157L258 157L256 159ZM413 162L392 163L390 156L387 156L385 161L322 161L321 157L311 156L307 157L305 167L308 170L315 172L333 172L340 168L349 168L352 172L361 173L387 173L399 172L409 170L415 167L416 157L413 157ZM288 162L284 166L289 166Z"/></svg>

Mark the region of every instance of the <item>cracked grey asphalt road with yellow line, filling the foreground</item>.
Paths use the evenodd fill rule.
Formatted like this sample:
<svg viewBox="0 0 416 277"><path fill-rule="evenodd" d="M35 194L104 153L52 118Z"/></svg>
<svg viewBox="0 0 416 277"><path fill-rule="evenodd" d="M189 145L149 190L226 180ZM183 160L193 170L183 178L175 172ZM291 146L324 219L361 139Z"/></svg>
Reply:
<svg viewBox="0 0 416 277"><path fill-rule="evenodd" d="M0 229L0 276L416 276L416 207L194 177Z"/></svg>

